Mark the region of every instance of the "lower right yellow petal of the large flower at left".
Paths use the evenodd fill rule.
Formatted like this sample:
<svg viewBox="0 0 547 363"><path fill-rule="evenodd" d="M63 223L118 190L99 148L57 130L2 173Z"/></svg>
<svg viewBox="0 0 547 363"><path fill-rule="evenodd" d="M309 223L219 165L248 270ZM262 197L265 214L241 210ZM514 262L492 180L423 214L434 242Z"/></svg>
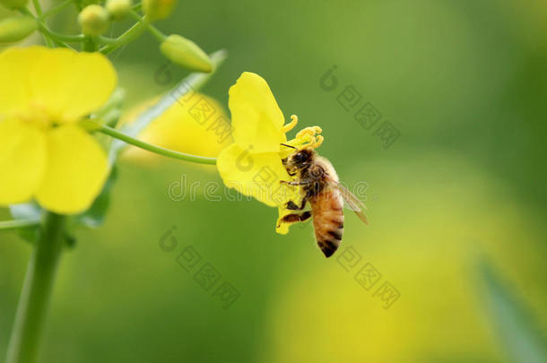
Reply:
<svg viewBox="0 0 547 363"><path fill-rule="evenodd" d="M36 199L52 212L75 214L88 209L108 174L105 151L77 125L62 125L48 136L48 167Z"/></svg>

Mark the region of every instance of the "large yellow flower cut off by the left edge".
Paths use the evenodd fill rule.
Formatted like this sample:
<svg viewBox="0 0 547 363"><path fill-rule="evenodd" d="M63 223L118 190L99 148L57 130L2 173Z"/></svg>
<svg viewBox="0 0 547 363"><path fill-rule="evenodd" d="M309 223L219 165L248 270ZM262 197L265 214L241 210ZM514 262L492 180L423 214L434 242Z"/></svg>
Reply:
<svg viewBox="0 0 547 363"><path fill-rule="evenodd" d="M108 175L105 151L82 127L117 83L109 60L65 48L0 54L0 205L86 210Z"/></svg>

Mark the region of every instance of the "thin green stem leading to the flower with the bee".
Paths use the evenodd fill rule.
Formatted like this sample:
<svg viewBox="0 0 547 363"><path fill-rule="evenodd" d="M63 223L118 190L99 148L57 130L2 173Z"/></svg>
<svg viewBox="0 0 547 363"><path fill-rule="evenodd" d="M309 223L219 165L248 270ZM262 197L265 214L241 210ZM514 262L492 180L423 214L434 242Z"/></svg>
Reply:
<svg viewBox="0 0 547 363"><path fill-rule="evenodd" d="M102 134L108 134L109 136L114 137L118 140L121 140L125 143L129 143L131 145L134 145L146 151L151 151L159 155L167 156L168 158L192 161L192 162L197 162L199 164L210 164L210 165L216 164L216 158L207 158L204 156L185 154L184 152L172 151L169 149L162 148L161 146L152 145L152 143L144 143L143 141L139 139L135 139L134 137L131 137L124 133L120 133L119 131L109 126L101 125L95 121L85 120L85 121L82 121L80 124L90 131L98 131Z"/></svg>

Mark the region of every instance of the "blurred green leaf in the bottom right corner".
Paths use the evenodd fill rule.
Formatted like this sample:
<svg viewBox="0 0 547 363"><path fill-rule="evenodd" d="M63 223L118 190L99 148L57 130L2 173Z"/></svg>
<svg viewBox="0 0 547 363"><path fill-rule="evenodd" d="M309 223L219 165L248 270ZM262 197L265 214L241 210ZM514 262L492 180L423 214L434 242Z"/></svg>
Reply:
<svg viewBox="0 0 547 363"><path fill-rule="evenodd" d="M519 363L547 362L547 341L534 324L537 318L530 308L499 280L489 264L482 264L481 274L486 285L487 308L510 358Z"/></svg>

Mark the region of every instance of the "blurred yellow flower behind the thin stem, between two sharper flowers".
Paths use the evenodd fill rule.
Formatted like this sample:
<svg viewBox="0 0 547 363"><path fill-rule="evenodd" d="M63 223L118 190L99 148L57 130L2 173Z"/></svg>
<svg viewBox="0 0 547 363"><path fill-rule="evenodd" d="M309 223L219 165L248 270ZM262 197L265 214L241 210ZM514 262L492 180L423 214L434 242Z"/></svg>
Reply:
<svg viewBox="0 0 547 363"><path fill-rule="evenodd" d="M130 110L122 120L122 125L134 122L156 100L146 101ZM190 92L179 97L171 107L156 117L138 138L166 149L215 158L232 143L230 118L216 100L201 93ZM142 161L162 158L136 147L128 148L126 156Z"/></svg>

